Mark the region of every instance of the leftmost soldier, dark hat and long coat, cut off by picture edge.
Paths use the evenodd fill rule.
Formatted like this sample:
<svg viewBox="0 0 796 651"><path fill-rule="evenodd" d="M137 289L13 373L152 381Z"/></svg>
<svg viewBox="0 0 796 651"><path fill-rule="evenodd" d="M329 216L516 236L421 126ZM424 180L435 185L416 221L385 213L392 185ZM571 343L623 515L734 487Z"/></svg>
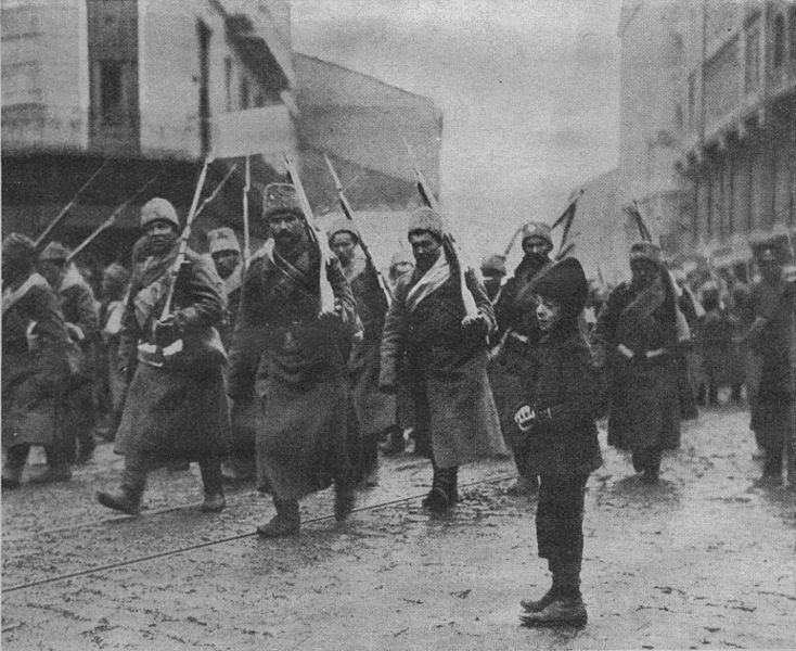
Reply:
<svg viewBox="0 0 796 651"><path fill-rule="evenodd" d="M61 427L69 337L59 299L35 264L33 241L20 233L3 240L3 489L20 485L31 445L44 447L48 480L72 476Z"/></svg>

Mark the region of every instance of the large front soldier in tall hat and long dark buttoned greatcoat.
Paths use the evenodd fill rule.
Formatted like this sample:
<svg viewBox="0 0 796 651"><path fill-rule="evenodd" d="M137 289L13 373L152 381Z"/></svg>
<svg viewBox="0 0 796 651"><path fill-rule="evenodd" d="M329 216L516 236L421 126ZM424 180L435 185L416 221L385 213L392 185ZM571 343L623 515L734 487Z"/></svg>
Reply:
<svg viewBox="0 0 796 651"><path fill-rule="evenodd" d="M350 452L357 430L346 362L357 316L334 256L323 272L335 307L321 311L322 256L295 188L267 186L264 214L270 239L244 277L229 395L235 404L257 400L262 409L257 486L270 489L277 515L257 533L273 538L297 534L298 500L331 484L338 521L354 506Z"/></svg>

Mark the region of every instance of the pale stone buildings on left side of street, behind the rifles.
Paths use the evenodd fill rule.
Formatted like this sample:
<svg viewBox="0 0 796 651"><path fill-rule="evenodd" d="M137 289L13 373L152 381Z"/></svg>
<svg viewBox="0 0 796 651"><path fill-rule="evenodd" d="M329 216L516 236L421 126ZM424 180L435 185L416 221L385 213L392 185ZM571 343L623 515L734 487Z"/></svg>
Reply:
<svg viewBox="0 0 796 651"><path fill-rule="evenodd" d="M318 60L320 72L307 74L307 59L292 50L286 0L2 0L3 233L40 233L104 163L53 233L76 245L159 173L86 252L98 265L124 260L139 233L138 207L161 195L184 216L202 162L213 155L205 195L237 168L196 222L201 250L210 228L241 227L237 154L249 150L257 153L249 193L255 239L264 234L261 189L284 180L284 153L296 155L321 207L334 197L322 153L335 158L341 176L359 177L352 193L372 186L385 205L406 206L411 167L390 163L395 143L380 136L375 107L394 124L403 120L435 180L437 110ZM322 140L320 131L330 128L335 138Z"/></svg>

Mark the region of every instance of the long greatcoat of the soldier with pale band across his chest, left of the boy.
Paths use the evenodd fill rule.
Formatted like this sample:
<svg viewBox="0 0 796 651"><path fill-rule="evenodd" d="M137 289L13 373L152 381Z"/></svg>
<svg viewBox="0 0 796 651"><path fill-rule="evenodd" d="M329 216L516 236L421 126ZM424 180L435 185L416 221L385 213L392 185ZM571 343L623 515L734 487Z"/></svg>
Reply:
<svg viewBox="0 0 796 651"><path fill-rule="evenodd" d="M407 355L415 404L415 427L427 426L439 468L504 456L498 412L487 376L486 333L465 331L458 277L448 280L410 310L407 295L420 270L396 285L382 340L382 386L395 386ZM495 328L492 304L472 270L467 291L478 311Z"/></svg>

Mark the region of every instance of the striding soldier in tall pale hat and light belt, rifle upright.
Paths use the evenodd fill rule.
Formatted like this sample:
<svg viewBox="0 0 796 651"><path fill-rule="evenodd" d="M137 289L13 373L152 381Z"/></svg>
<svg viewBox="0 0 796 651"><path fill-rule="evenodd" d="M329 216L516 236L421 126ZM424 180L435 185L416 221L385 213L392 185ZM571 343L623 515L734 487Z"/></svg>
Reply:
<svg viewBox="0 0 796 651"><path fill-rule="evenodd" d="M130 292L121 318L119 365L131 378L117 454L125 456L116 493L98 493L100 503L138 513L147 474L174 460L198 461L204 511L224 508L221 459L229 451L229 416L221 368L226 362L216 327L224 315L221 281L208 260L187 251L174 281L180 222L165 199L141 208L145 241L137 246ZM172 355L181 342L182 350Z"/></svg>

